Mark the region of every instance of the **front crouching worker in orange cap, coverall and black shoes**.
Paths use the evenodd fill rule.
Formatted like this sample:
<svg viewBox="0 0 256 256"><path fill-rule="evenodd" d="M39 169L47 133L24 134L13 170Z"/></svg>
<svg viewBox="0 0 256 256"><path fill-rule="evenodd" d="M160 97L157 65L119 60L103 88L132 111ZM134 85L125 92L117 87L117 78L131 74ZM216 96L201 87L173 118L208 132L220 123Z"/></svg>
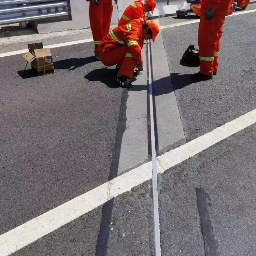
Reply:
<svg viewBox="0 0 256 256"><path fill-rule="evenodd" d="M158 33L159 27L154 20L141 25L139 19L133 19L127 25L114 28L103 38L99 45L101 62L108 67L116 64L119 67L112 82L114 85L132 87L130 79L135 67L138 68L137 73L143 68L141 49L144 40L155 42Z"/></svg>

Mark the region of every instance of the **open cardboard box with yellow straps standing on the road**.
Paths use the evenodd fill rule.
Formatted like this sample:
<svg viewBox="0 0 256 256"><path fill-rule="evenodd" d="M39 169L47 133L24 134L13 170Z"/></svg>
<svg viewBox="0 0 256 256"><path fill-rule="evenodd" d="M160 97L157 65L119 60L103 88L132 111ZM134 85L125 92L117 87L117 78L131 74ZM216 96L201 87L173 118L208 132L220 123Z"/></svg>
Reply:
<svg viewBox="0 0 256 256"><path fill-rule="evenodd" d="M43 48L43 43L28 44L28 52L23 57L38 74L54 73L51 51L49 48Z"/></svg>

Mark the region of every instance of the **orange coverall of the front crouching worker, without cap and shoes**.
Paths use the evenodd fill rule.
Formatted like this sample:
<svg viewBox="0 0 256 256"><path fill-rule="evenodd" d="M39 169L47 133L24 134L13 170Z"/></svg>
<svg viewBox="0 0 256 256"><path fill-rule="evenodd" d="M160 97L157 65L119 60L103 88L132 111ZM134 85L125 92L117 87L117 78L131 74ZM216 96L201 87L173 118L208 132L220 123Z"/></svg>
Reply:
<svg viewBox="0 0 256 256"><path fill-rule="evenodd" d="M105 66L120 65L118 74L131 78L137 62L142 61L142 25L134 19L114 28L99 45L100 60Z"/></svg>

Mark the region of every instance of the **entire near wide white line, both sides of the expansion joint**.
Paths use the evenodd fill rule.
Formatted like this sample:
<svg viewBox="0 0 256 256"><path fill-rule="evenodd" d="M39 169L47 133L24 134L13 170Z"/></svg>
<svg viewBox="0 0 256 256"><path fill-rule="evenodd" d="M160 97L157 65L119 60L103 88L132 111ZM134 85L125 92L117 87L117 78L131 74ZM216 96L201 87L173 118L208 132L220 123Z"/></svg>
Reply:
<svg viewBox="0 0 256 256"><path fill-rule="evenodd" d="M246 127L256 123L256 109L197 139L157 157L157 172L169 168L202 152ZM115 179L76 197L0 236L0 256L8 256L38 240L75 218L99 207L106 201L152 178L152 162L126 172Z"/></svg>

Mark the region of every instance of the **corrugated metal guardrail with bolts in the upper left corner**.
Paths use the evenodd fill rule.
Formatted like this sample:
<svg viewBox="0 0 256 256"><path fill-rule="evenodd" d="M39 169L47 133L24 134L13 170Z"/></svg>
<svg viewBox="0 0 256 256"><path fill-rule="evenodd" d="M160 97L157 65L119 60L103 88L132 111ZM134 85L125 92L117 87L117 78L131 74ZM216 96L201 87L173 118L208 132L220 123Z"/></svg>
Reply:
<svg viewBox="0 0 256 256"><path fill-rule="evenodd" d="M0 25L64 16L70 16L68 0L0 0Z"/></svg>

